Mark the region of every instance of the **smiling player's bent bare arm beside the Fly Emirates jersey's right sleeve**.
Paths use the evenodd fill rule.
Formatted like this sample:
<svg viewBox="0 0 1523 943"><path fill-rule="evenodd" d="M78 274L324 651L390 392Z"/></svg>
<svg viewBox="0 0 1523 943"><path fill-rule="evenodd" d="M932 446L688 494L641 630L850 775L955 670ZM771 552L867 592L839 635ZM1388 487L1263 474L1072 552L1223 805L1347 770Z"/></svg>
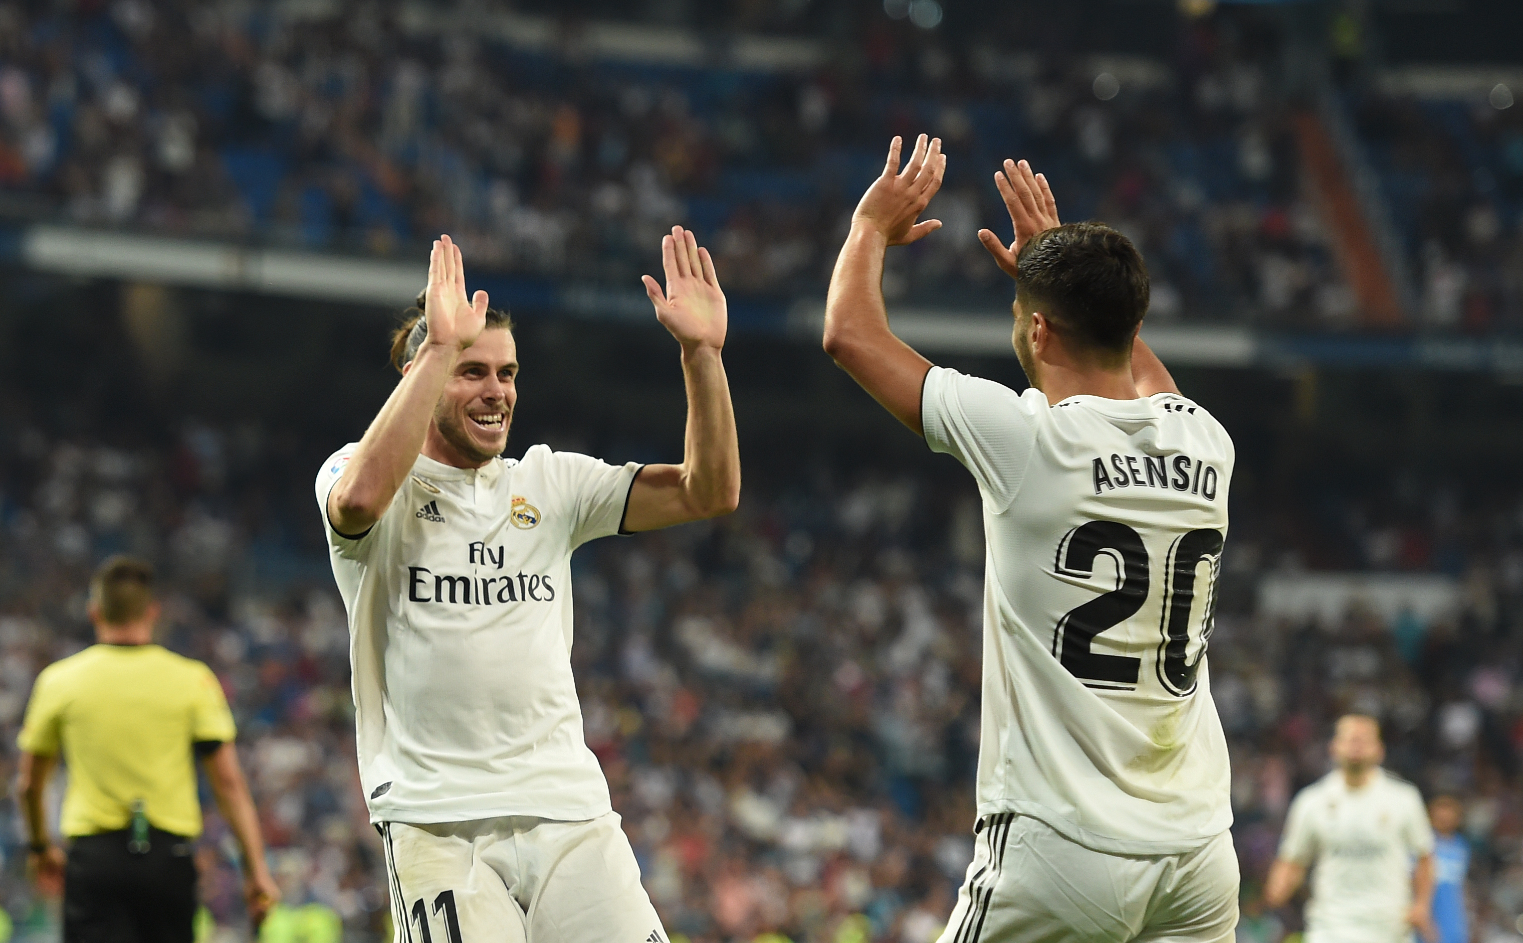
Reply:
<svg viewBox="0 0 1523 943"><path fill-rule="evenodd" d="M681 465L646 465L629 490L626 531L655 531L730 514L740 503L740 444L720 351L728 310L714 260L693 233L661 237L666 291L650 275L646 294L656 319L682 347L687 435Z"/></svg>

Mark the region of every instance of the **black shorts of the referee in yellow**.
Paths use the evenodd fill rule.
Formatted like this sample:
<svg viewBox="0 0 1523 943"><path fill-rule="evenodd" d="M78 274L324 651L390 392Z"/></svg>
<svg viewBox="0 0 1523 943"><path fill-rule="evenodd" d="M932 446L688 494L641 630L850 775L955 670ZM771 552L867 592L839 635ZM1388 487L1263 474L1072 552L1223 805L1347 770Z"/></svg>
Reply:
<svg viewBox="0 0 1523 943"><path fill-rule="evenodd" d="M64 943L193 943L195 843L149 830L146 855L128 833L72 840L64 868Z"/></svg>

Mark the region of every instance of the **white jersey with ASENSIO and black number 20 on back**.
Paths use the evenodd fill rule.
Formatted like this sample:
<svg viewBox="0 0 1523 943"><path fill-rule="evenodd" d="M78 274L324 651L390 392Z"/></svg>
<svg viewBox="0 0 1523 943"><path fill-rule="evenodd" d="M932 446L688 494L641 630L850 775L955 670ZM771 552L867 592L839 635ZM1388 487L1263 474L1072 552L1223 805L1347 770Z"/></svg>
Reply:
<svg viewBox="0 0 1523 943"><path fill-rule="evenodd" d="M1206 672L1232 440L1177 394L1075 395L932 368L926 443L984 499L978 814L1162 855L1232 824Z"/></svg>

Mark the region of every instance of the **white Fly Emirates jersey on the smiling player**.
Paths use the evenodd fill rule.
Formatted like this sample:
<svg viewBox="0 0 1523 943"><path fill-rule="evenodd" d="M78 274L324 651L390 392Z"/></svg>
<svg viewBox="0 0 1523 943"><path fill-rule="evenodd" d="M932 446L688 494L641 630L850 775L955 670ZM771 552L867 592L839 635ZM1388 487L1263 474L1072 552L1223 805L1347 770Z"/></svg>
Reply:
<svg viewBox="0 0 1523 943"><path fill-rule="evenodd" d="M359 780L372 821L595 818L608 782L571 677L571 551L618 532L637 464L535 446L455 468L419 456L381 520L334 531L349 610Z"/></svg>

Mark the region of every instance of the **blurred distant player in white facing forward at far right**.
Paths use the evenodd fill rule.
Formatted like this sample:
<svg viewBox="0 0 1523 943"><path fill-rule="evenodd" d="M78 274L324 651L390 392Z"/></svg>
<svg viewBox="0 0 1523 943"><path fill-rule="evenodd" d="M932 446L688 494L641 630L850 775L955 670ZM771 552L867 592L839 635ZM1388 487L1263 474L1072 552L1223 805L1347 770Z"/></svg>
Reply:
<svg viewBox="0 0 1523 943"><path fill-rule="evenodd" d="M1264 900L1282 906L1311 870L1307 943L1433 943L1433 829L1418 788L1381 768L1380 724L1339 718L1331 773L1296 794Z"/></svg>

